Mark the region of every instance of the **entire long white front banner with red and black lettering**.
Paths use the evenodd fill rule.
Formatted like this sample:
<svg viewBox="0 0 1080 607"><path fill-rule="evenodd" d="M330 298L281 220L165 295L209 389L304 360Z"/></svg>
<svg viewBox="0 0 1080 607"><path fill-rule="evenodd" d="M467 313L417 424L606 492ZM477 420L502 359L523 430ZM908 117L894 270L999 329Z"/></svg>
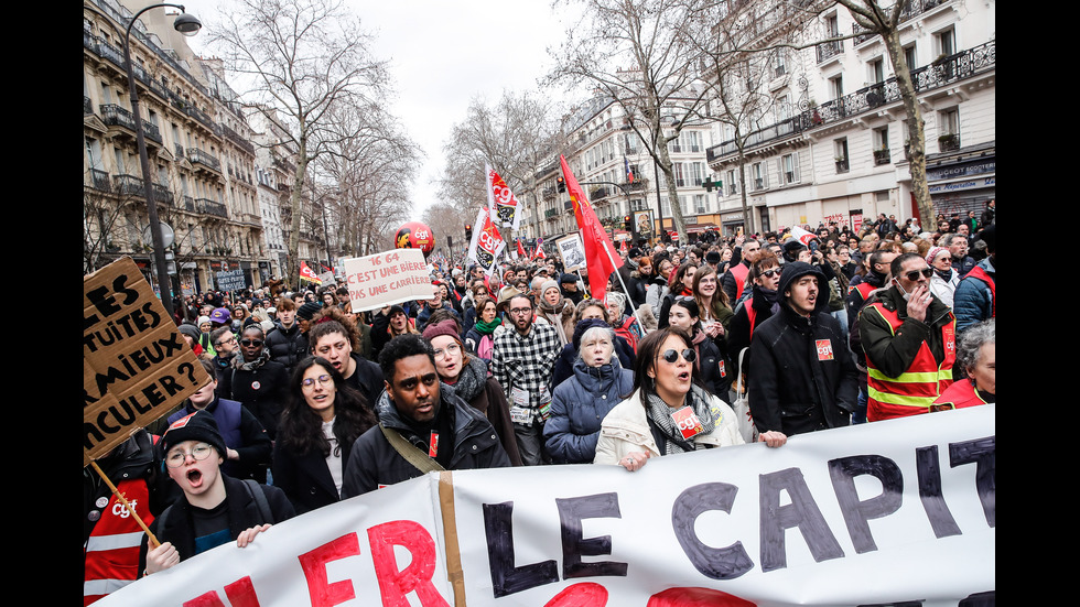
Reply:
<svg viewBox="0 0 1080 607"><path fill-rule="evenodd" d="M229 587L262 607L337 605L352 592L401 606L982 604L996 589L995 408L672 455L635 473L444 473L452 499L432 474L215 549L164 572L165 589L154 574L102 605L223 605L205 597ZM363 539L390 536L380 525L393 521L412 533L393 535L390 563L385 540ZM348 533L358 549L332 543ZM428 538L433 556L418 548ZM458 571L456 586L441 577Z"/></svg>

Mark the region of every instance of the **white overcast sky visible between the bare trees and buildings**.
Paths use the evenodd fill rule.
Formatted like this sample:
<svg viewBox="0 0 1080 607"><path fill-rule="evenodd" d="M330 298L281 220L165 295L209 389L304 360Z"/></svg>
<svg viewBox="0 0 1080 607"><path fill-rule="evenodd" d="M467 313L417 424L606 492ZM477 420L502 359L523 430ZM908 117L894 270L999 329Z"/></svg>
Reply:
<svg viewBox="0 0 1080 607"><path fill-rule="evenodd" d="M551 65L569 22L550 0L346 0L369 32L375 54L389 59L398 97L391 111L426 154L411 193L413 219L438 200L433 183L445 166L443 143L477 96L489 104L504 89L528 90ZM187 11L213 21L218 2L188 0ZM207 36L188 41L207 53ZM201 42L203 45L201 45Z"/></svg>

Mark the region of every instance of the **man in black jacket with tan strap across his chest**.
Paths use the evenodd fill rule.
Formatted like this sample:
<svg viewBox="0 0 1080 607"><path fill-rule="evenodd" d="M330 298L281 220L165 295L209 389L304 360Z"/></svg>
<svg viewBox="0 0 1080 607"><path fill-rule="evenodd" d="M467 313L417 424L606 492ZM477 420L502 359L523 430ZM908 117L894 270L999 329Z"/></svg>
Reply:
<svg viewBox="0 0 1080 607"><path fill-rule="evenodd" d="M349 453L342 499L424 475L430 469L465 470L510 465L492 422L439 382L431 344L414 334L391 339L379 355L386 391L376 410L379 425L365 432ZM403 446L391 440L401 438ZM402 451L399 451L402 449ZM438 464L438 467L435 466Z"/></svg>

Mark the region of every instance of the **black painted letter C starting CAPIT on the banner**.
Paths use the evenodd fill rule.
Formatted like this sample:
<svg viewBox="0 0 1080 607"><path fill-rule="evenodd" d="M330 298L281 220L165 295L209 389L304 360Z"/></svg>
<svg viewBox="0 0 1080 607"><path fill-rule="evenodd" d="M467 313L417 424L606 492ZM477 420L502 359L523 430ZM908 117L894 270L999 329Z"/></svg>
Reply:
<svg viewBox="0 0 1080 607"><path fill-rule="evenodd" d="M712 548L702 543L694 532L698 516L709 510L731 513L738 487L726 483L694 485L679 494L671 507L671 527L682 552L702 575L713 579L735 579L754 568L754 562L743 542L726 548Z"/></svg>

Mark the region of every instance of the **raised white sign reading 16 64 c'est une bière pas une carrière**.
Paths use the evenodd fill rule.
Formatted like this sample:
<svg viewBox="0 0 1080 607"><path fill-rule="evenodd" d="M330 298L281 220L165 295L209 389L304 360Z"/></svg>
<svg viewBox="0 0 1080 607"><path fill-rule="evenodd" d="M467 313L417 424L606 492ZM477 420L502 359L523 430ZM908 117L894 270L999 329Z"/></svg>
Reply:
<svg viewBox="0 0 1080 607"><path fill-rule="evenodd" d="M353 312L431 299L428 262L420 249L395 249L345 260Z"/></svg>

